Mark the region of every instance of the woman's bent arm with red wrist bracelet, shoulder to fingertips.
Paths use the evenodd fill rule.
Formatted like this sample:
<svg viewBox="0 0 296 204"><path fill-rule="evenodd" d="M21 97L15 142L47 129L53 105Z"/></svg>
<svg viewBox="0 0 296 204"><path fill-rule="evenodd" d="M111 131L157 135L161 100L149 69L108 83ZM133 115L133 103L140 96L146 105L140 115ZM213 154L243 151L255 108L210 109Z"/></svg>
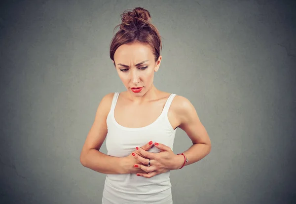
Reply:
<svg viewBox="0 0 296 204"><path fill-rule="evenodd" d="M201 160L210 153L211 140L208 136L205 127L200 122L196 110L194 106L191 104L191 102L189 102L189 100L187 100L185 97L176 96L174 103L174 113L176 114L176 117L179 119L180 124L178 127L185 131L185 133L187 134L187 136L189 136L193 143L189 149L183 152L185 157L188 159L188 162L185 163L186 166ZM159 148L161 152L151 153L143 149L138 149L138 151L142 155L144 155L146 158L151 159L150 167L138 165L138 168L148 172L141 173L139 174L140 176L150 178L156 174L163 173L168 170L179 169L183 166L183 155L174 154L171 148L163 144L155 146ZM145 162L147 160L138 155L136 155L135 157L140 162Z"/></svg>

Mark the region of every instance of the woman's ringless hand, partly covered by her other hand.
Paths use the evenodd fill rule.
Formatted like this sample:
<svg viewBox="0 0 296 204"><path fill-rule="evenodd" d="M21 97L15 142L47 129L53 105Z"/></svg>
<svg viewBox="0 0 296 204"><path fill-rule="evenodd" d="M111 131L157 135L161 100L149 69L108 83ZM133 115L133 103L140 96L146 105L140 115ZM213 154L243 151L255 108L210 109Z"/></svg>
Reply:
<svg viewBox="0 0 296 204"><path fill-rule="evenodd" d="M144 149L145 151L148 151L152 146L153 146L153 142L149 141L147 144L143 145L141 148ZM139 164L139 161L132 154L138 154L141 157L144 157L136 150L133 151L128 156L123 157L121 168L123 168L124 172L125 173L147 173L144 170L137 169L134 167L135 164Z"/></svg>

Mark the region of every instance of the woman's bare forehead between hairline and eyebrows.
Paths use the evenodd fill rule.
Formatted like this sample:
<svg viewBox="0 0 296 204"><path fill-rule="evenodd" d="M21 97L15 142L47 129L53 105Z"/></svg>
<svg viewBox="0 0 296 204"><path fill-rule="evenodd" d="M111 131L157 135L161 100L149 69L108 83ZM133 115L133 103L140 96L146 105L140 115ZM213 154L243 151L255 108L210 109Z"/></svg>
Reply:
<svg viewBox="0 0 296 204"><path fill-rule="evenodd" d="M151 58L153 58L151 47L139 42L120 45L114 53L114 60L120 61L120 63Z"/></svg>

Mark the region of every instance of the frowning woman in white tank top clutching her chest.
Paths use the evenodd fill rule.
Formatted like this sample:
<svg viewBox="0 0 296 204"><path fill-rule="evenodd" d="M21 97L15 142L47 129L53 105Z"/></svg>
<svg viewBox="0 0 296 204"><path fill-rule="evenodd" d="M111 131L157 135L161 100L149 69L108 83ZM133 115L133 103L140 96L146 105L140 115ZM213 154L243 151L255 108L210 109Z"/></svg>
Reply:
<svg viewBox="0 0 296 204"><path fill-rule="evenodd" d="M121 14L110 57L127 91L103 97L81 151L84 167L107 174L103 204L172 204L170 170L211 151L193 105L153 85L161 39L150 18L141 7ZM193 143L183 154L172 151L177 127ZM105 138L107 155L100 152Z"/></svg>

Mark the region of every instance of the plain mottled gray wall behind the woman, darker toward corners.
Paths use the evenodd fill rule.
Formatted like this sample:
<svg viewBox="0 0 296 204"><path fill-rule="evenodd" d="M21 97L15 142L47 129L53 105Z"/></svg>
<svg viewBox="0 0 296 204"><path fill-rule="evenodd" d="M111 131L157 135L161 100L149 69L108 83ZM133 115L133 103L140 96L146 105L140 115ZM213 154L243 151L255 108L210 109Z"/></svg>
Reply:
<svg viewBox="0 0 296 204"><path fill-rule="evenodd" d="M137 6L163 37L155 86L192 102L212 140L207 157L171 171L174 204L296 203L288 0L1 1L0 203L101 203L105 175L79 155L102 97L125 90L109 44ZM190 145L177 130L174 152Z"/></svg>

